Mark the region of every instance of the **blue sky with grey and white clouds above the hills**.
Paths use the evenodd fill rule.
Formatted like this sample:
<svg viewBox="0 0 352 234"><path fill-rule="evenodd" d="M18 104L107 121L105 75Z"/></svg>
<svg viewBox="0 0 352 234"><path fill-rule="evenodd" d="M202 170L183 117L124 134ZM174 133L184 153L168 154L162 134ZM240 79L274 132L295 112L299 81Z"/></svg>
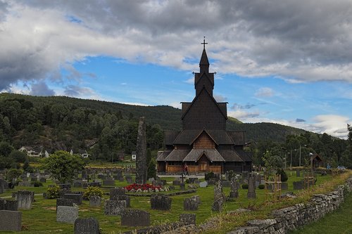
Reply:
<svg viewBox="0 0 352 234"><path fill-rule="evenodd" d="M346 138L351 0L0 0L0 91L180 108L203 37L229 116Z"/></svg>

